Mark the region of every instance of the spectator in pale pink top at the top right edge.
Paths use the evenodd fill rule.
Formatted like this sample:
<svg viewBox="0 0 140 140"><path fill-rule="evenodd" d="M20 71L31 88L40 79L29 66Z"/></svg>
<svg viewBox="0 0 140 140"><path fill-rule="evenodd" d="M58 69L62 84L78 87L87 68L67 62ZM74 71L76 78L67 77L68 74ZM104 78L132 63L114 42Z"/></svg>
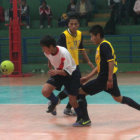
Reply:
<svg viewBox="0 0 140 140"><path fill-rule="evenodd" d="M134 4L134 22L135 24L138 24L138 18L140 18L140 0L136 0L135 4Z"/></svg>

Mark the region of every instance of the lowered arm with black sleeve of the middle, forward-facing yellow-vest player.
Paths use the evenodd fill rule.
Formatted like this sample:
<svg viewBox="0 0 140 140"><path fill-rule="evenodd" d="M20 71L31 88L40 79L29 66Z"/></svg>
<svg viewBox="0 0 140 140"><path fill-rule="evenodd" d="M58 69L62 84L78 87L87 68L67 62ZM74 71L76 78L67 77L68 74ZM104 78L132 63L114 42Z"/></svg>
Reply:
<svg viewBox="0 0 140 140"><path fill-rule="evenodd" d="M83 47L83 37L82 37L82 40L81 40L79 49L81 50L81 53L82 53L84 59L86 60L86 62L88 63L88 65L93 69L93 68L94 68L94 65L93 65L92 62L90 61L90 59L89 59L89 57L88 57L88 55L87 55L87 52L86 52L86 50L85 50L84 47Z"/></svg>

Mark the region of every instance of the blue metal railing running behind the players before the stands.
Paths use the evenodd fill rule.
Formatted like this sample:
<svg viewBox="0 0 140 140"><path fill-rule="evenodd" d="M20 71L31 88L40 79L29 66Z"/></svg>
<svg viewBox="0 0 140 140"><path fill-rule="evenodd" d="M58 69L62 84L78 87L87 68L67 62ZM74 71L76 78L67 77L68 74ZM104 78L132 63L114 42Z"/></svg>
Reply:
<svg viewBox="0 0 140 140"><path fill-rule="evenodd" d="M57 39L58 36L55 36ZM140 34L105 36L114 49L119 63L140 63ZM22 38L22 62L46 63L46 58L40 47L40 37ZM96 46L90 41L90 36L84 36L84 46L91 60L94 61ZM0 61L9 59L9 39L0 38Z"/></svg>

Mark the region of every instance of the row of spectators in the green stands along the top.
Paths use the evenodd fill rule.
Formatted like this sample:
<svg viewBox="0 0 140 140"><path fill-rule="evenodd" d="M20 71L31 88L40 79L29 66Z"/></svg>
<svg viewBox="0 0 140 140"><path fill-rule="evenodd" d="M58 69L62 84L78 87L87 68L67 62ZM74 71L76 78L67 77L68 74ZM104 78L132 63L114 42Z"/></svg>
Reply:
<svg viewBox="0 0 140 140"><path fill-rule="evenodd" d="M12 0L9 0L12 3ZM140 0L108 0L108 6L111 9L111 16L108 22L109 24L130 24L130 20L133 20L134 24L139 24L140 18ZM30 7L26 0L21 0L21 20L25 22L26 28L30 28ZM62 13L62 16L58 19L58 26L64 27L67 25L67 19L72 14L79 16L80 22L85 21L85 26L89 21L94 19L94 13L97 13L100 9L96 6L96 0L70 0L67 5L66 11ZM12 5L8 12L0 6L0 22L9 20L8 16L12 18ZM47 1L40 0L39 5L40 16L40 28L44 28L47 21L47 27L52 25L53 11ZM132 17L132 18L130 18Z"/></svg>

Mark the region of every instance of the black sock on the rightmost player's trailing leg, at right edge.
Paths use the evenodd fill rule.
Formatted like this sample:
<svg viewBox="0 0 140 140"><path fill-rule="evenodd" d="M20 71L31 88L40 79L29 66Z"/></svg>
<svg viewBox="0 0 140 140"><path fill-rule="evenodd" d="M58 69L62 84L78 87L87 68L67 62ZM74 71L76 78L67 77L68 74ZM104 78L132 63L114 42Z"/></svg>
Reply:
<svg viewBox="0 0 140 140"><path fill-rule="evenodd" d="M140 110L140 105L129 97L123 96L122 104L127 104L127 105L129 105L137 110Z"/></svg>

